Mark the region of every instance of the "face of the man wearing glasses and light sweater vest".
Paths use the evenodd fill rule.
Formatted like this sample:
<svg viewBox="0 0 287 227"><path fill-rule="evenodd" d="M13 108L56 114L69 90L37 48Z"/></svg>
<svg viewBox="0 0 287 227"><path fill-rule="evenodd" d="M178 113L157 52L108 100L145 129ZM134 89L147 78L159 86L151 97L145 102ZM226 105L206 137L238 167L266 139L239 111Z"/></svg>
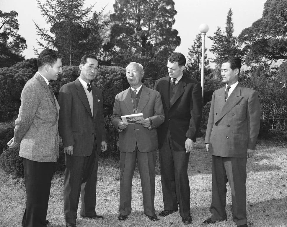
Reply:
<svg viewBox="0 0 287 227"><path fill-rule="evenodd" d="M88 84L97 76L99 63L94 58L87 58L86 64L80 64L79 68L81 70L80 78Z"/></svg>

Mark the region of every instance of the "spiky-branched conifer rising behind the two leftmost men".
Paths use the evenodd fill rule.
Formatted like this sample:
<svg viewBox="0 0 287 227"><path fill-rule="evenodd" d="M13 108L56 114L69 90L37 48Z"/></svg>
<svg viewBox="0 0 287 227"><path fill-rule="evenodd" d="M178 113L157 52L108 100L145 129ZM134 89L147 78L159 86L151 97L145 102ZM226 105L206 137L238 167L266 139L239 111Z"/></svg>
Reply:
<svg viewBox="0 0 287 227"><path fill-rule="evenodd" d="M56 48L63 56L63 65L78 65L86 53L99 55L103 43L100 34L106 25L105 21L99 23L103 9L89 17L94 5L84 8L84 0L37 2L47 24L51 25L49 33L34 22L37 35L44 41L38 41L40 47ZM35 52L38 53L37 50Z"/></svg>

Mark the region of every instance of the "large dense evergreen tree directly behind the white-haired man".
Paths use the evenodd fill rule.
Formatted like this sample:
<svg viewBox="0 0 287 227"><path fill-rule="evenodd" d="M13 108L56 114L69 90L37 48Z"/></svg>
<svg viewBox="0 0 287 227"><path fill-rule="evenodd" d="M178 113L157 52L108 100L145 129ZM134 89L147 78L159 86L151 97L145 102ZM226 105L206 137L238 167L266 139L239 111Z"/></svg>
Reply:
<svg viewBox="0 0 287 227"><path fill-rule="evenodd" d="M172 0L116 0L108 51L112 63L125 67L129 62L141 63L146 85L167 75L167 57L180 45L180 37L172 26L177 13Z"/></svg>

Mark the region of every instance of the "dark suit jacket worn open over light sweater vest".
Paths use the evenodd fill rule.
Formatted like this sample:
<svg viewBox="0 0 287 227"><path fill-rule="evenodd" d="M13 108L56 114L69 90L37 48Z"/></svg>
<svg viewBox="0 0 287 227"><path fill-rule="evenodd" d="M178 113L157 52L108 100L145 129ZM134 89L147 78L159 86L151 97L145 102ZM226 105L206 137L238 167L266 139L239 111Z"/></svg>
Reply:
<svg viewBox="0 0 287 227"><path fill-rule="evenodd" d="M91 87L94 117L78 78L63 85L59 92L59 130L63 146L74 145L73 156L91 155L94 137L96 137L98 153L101 152L102 141L106 141L102 92L93 85Z"/></svg>

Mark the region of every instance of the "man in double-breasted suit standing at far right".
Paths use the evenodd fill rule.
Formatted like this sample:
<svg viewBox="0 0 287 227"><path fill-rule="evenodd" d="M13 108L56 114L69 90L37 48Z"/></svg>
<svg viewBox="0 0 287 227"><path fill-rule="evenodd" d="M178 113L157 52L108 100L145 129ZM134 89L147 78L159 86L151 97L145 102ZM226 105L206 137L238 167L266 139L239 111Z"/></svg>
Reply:
<svg viewBox="0 0 287 227"><path fill-rule="evenodd" d="M232 198L232 218L247 227L246 162L255 154L260 127L260 103L256 91L238 82L241 60L231 57L221 66L222 82L214 91L206 129L206 150L212 155L211 218L204 223L226 220L226 183Z"/></svg>

